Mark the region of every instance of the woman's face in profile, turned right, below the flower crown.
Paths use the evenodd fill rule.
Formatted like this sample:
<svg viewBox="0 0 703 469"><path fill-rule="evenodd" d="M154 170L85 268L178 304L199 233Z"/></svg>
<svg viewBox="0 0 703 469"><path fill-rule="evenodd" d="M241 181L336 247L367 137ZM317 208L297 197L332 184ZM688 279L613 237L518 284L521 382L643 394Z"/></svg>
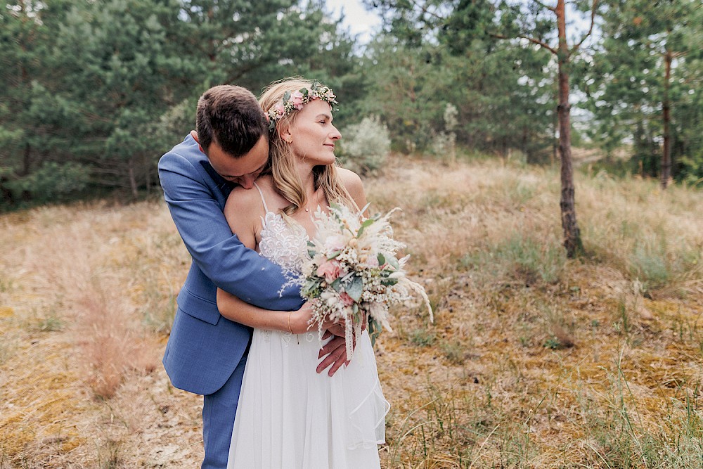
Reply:
<svg viewBox="0 0 703 469"><path fill-rule="evenodd" d="M288 129L290 148L297 158L313 165L335 162L335 142L342 134L332 124L332 108L321 99L310 101L297 113Z"/></svg>

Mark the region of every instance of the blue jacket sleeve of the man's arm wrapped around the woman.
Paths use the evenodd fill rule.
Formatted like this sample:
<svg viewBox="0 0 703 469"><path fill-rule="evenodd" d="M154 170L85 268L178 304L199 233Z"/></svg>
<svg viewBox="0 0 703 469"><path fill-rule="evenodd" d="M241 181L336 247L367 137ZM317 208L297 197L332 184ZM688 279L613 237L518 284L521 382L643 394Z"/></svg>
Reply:
<svg viewBox="0 0 703 469"><path fill-rule="evenodd" d="M193 261L222 290L264 309L298 309L299 288L286 283L280 267L245 247L232 234L217 200L191 162L169 152L159 178L176 228Z"/></svg>

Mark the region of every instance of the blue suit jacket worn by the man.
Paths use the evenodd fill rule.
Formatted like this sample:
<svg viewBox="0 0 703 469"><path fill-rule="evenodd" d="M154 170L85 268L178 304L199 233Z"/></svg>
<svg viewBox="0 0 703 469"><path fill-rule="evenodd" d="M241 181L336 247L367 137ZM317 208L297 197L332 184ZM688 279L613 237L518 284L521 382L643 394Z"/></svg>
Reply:
<svg viewBox="0 0 703 469"><path fill-rule="evenodd" d="M219 314L217 287L264 309L297 309L302 299L296 288L279 296L280 268L233 236L222 213L233 185L212 169L192 136L162 156L159 178L193 257L163 363L175 387L212 394L233 373L252 333Z"/></svg>

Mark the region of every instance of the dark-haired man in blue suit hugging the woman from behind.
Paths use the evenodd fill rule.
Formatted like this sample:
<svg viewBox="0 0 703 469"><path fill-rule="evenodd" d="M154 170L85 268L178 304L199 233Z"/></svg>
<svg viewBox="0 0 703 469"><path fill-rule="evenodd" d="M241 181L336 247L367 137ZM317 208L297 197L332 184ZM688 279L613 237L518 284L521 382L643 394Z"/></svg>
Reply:
<svg viewBox="0 0 703 469"><path fill-rule="evenodd" d="M303 304L280 267L249 250L232 234L222 210L235 184L252 188L269 158L269 124L257 99L240 86L221 85L198 101L196 131L162 156L164 198L193 257L178 295L164 354L175 387L203 395L202 468L226 468L251 328L217 310L217 287L264 309L291 311ZM265 314L265 311L259 311ZM344 338L320 352L321 373L347 359Z"/></svg>

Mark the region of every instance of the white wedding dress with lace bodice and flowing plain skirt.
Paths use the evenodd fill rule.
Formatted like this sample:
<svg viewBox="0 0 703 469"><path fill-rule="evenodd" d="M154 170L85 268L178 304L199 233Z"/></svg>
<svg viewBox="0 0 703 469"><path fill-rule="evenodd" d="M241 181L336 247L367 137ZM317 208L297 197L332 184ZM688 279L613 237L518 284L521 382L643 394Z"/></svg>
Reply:
<svg viewBox="0 0 703 469"><path fill-rule="evenodd" d="M263 194L262 201L259 250L295 270L308 255L307 233L269 212ZM389 404L368 333L357 340L349 366L332 377L316 372L322 345L317 331L254 330L228 469L380 468L377 444L385 442Z"/></svg>

